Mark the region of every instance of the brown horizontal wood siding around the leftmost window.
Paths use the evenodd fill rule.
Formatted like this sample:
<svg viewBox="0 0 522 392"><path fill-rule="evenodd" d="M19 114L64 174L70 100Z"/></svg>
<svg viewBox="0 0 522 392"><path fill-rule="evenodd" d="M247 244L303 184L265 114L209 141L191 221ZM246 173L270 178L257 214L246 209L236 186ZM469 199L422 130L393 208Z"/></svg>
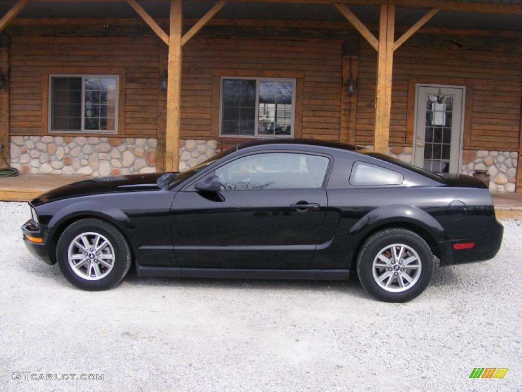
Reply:
<svg viewBox="0 0 522 392"><path fill-rule="evenodd" d="M119 135L157 134L159 41L125 37L11 37L10 133L42 134L42 72L54 67L89 67L110 74L126 70L125 121ZM122 122L120 122L122 124ZM78 135L78 133L74 133Z"/></svg>

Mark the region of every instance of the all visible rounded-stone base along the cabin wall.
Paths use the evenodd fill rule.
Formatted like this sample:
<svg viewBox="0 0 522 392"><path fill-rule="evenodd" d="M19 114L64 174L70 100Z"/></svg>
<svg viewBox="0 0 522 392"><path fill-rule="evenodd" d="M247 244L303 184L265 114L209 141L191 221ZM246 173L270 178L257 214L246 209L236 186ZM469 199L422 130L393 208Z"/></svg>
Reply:
<svg viewBox="0 0 522 392"><path fill-rule="evenodd" d="M155 172L157 145L157 139L132 137L12 136L10 158L22 173L117 176ZM216 149L215 140L182 140L180 171L212 157ZM412 147L393 146L388 154L413 162ZM490 191L515 192L517 164L517 152L464 150L461 172L488 170Z"/></svg>

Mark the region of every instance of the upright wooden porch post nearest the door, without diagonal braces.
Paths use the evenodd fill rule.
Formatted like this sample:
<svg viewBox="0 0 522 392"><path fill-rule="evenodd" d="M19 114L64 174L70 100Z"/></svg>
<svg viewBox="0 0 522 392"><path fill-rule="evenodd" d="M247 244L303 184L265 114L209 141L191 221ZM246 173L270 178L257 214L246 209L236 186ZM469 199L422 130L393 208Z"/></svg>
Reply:
<svg viewBox="0 0 522 392"><path fill-rule="evenodd" d="M394 34L395 6L381 5L373 148L376 152L382 154L388 154L390 111L392 109Z"/></svg>

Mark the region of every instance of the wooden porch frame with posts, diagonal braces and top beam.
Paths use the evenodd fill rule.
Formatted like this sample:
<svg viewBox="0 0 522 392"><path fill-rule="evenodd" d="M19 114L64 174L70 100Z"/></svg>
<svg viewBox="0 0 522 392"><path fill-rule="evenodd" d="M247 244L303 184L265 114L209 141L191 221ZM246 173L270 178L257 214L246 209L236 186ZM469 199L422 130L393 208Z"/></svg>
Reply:
<svg viewBox="0 0 522 392"><path fill-rule="evenodd" d="M0 32L29 2L51 2L52 0L18 0L0 19ZM72 3L76 0L54 0L56 3ZM393 53L429 21L441 9L491 14L522 15L522 0L505 4L502 0L219 0L211 6L185 34L183 34L183 1L168 0L170 6L169 32L165 32L156 20L136 0L125 0L147 25L168 45L167 82L167 130L165 135L164 169L177 171L179 168L180 119L181 119L181 63L182 47L203 28L227 3L303 3L335 5L350 24L377 51L377 77L375 97L374 149L387 154L389 139L390 108L392 98ZM156 0L165 2L165 0ZM197 0L196 0L197 1ZM78 1L79 3L80 1ZM122 0L82 0L83 3L121 3ZM378 37L350 10L350 5L378 6ZM428 8L429 11L413 23L411 28L395 40L395 9ZM521 139L522 140L522 139Z"/></svg>

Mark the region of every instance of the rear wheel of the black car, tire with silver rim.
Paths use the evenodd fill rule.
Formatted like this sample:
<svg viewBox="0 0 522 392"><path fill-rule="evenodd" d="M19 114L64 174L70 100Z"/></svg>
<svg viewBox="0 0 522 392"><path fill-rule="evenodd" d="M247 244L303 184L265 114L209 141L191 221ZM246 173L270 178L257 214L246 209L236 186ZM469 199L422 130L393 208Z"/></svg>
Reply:
<svg viewBox="0 0 522 392"><path fill-rule="evenodd" d="M407 302L428 287L434 270L426 241L403 228L372 235L357 258L357 274L364 290L385 302Z"/></svg>

